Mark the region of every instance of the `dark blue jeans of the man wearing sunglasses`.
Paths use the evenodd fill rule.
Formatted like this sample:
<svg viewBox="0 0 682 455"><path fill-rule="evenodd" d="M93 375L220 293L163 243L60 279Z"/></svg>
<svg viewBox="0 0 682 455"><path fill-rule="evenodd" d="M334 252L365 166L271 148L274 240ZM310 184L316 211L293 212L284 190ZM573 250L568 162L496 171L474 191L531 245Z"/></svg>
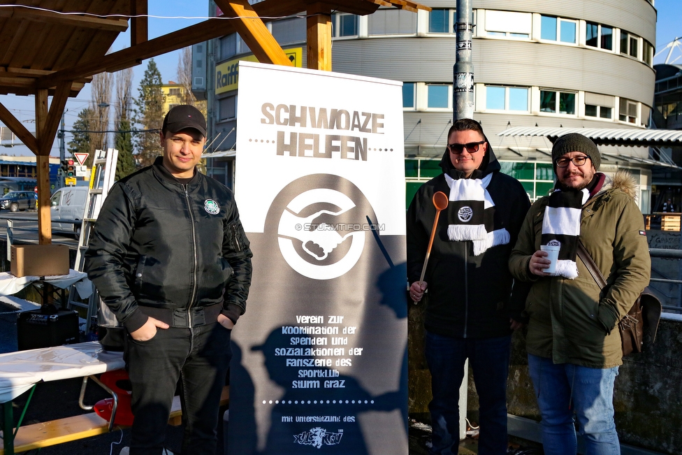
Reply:
<svg viewBox="0 0 682 455"><path fill-rule="evenodd" d="M432 455L456 454L459 446L459 387L464 363L474 374L479 394L479 455L507 454L507 374L511 336L450 338L426 332L426 361L433 400L428 405L433 427Z"/></svg>

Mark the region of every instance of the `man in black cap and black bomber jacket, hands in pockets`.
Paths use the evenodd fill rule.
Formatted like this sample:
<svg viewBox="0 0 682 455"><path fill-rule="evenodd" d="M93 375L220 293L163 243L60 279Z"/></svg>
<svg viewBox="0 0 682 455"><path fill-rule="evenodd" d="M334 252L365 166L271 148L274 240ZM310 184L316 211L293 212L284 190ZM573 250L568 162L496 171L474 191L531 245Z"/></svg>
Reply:
<svg viewBox="0 0 682 455"><path fill-rule="evenodd" d="M178 382L182 452L215 453L252 253L232 192L196 171L205 136L201 112L172 108L160 137L164 156L114 185L86 252L88 277L126 330L131 455L164 450Z"/></svg>

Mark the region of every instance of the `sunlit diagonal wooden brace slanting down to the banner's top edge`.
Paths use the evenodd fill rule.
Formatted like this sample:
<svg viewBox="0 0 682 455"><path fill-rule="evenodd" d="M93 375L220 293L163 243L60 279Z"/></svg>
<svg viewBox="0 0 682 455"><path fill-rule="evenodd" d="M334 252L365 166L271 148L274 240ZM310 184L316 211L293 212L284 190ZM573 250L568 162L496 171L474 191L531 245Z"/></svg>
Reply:
<svg viewBox="0 0 682 455"><path fill-rule="evenodd" d="M292 66L289 57L286 57L248 0L215 0L215 3L224 13L231 12L238 17L234 27L259 62Z"/></svg>

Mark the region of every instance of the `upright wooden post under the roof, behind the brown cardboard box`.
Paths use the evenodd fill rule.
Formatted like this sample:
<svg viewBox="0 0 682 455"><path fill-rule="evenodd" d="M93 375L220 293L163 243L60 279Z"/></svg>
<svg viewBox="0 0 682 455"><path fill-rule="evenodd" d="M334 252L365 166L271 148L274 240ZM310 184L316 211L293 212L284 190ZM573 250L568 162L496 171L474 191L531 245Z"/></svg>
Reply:
<svg viewBox="0 0 682 455"><path fill-rule="evenodd" d="M38 150L43 140L55 138L44 136L48 119L48 89L36 92L36 139ZM48 149L49 150L49 149ZM52 224L50 222L50 154L36 154L36 171L38 173L38 243L52 243Z"/></svg>

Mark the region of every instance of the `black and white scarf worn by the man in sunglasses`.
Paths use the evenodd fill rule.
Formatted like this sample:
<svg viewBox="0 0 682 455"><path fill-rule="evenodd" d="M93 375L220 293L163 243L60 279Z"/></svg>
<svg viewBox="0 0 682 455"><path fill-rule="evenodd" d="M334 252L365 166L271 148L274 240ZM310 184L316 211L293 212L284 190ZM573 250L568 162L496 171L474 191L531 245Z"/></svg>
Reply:
<svg viewBox="0 0 682 455"><path fill-rule="evenodd" d="M492 178L493 173L482 179L454 179L445 174L450 187L448 238L453 242L471 240L475 256L495 245L509 243L509 231L495 229L493 225L495 203L486 189Z"/></svg>

